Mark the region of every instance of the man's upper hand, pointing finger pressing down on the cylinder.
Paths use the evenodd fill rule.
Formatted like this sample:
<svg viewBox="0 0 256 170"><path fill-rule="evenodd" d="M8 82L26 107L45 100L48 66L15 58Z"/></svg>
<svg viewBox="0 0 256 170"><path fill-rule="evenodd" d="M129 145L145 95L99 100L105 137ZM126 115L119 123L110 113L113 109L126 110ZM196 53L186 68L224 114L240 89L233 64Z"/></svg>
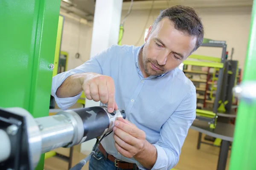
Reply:
<svg viewBox="0 0 256 170"><path fill-rule="evenodd" d="M101 101L103 104L108 103L110 113L118 109L115 102L115 84L111 77L86 73L80 77L80 82L87 99Z"/></svg>

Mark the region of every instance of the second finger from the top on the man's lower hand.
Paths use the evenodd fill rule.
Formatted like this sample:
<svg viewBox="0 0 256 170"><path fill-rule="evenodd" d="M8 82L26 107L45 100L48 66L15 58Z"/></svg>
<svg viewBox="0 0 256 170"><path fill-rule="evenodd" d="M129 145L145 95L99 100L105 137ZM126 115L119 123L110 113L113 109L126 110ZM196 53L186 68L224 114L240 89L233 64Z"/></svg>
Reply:
<svg viewBox="0 0 256 170"><path fill-rule="evenodd" d="M126 142L132 146L137 146L137 144L140 142L139 139L137 139L136 137L132 136L129 133L126 133L125 131L123 131L119 128L114 127L113 130L114 130L114 134L116 134L116 136L118 136L124 142Z"/></svg>

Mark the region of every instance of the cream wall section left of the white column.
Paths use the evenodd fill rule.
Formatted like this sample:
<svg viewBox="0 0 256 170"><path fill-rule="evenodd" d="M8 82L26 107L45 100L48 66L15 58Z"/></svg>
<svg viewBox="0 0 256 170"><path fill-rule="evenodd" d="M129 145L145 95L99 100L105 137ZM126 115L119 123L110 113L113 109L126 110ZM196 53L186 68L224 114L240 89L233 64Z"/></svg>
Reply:
<svg viewBox="0 0 256 170"><path fill-rule="evenodd" d="M79 23L68 17L64 18L61 51L66 51L68 56L67 70L76 68L90 58L90 48L93 27ZM79 59L75 54L79 52Z"/></svg>

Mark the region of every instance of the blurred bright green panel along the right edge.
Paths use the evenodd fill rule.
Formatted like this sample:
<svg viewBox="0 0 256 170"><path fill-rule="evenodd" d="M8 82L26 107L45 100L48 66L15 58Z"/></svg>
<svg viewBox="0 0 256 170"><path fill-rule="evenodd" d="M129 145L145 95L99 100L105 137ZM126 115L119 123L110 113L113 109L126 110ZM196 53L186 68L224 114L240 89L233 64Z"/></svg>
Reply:
<svg viewBox="0 0 256 170"><path fill-rule="evenodd" d="M243 84L256 82L256 0L253 1L250 37L244 65ZM252 89L252 94L255 88ZM255 96L255 95L252 95ZM256 101L241 99L239 103L230 170L256 170Z"/></svg>

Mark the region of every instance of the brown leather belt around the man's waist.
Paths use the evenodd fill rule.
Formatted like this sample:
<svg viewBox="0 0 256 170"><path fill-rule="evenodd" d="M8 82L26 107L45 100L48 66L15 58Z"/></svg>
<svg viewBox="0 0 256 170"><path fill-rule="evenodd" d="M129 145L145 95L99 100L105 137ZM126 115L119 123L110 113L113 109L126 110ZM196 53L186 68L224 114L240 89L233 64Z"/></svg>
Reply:
<svg viewBox="0 0 256 170"><path fill-rule="evenodd" d="M108 154L106 150L103 148L102 144L99 144L99 150L102 152L104 156L107 156L109 160L114 162L116 167L122 168L122 169L136 169L138 168L136 164L121 161L119 159L116 159L114 156ZM135 167L134 167L135 166Z"/></svg>

